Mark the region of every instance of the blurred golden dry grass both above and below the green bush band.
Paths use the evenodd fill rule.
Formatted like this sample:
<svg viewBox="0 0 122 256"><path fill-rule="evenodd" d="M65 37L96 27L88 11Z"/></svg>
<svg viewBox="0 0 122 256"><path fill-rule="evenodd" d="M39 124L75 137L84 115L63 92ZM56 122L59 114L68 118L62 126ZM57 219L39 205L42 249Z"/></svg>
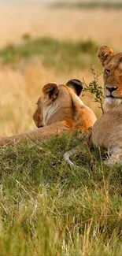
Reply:
<svg viewBox="0 0 122 256"><path fill-rule="evenodd" d="M74 41L93 39L98 45L108 44L116 49L121 46L122 10L2 7L0 20L3 24L0 30L1 47L9 43L21 43L24 33L30 34L32 38L50 35L56 39ZM72 72L57 74L54 69L46 69L39 59L31 59L26 65L21 61L20 65L14 67L1 65L0 135L12 135L35 128L32 114L44 84L50 81L65 83L72 78L82 80L83 77L87 83L92 80L90 66L87 66L87 70L74 69ZM99 113L90 96L84 96L83 101L95 113Z"/></svg>

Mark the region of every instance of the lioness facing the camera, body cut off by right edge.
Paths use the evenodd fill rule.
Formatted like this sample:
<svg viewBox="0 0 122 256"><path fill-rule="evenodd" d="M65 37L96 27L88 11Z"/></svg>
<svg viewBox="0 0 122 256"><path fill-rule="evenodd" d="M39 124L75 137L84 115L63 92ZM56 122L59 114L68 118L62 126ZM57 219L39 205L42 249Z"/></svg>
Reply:
<svg viewBox="0 0 122 256"><path fill-rule="evenodd" d="M108 149L105 163L113 165L122 163L122 54L114 54L112 49L102 46L98 58L104 66L105 114L95 122L91 140L94 146Z"/></svg>

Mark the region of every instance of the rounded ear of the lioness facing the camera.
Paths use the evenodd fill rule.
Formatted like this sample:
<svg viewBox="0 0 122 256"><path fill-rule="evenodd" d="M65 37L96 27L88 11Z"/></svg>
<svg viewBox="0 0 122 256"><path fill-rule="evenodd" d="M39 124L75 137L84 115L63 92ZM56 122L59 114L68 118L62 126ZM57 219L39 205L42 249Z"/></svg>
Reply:
<svg viewBox="0 0 122 256"><path fill-rule="evenodd" d="M101 46L98 49L98 58L100 59L103 67L114 56L113 49L108 46Z"/></svg>

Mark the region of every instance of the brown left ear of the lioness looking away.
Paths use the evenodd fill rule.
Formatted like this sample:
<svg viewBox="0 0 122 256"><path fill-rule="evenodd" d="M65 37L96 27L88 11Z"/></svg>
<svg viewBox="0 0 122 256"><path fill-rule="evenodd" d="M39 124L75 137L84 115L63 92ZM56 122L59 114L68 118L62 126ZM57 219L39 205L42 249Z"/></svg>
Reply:
<svg viewBox="0 0 122 256"><path fill-rule="evenodd" d="M57 83L47 83L43 87L43 94L46 95L48 98L51 98L54 101L58 95L58 87Z"/></svg>

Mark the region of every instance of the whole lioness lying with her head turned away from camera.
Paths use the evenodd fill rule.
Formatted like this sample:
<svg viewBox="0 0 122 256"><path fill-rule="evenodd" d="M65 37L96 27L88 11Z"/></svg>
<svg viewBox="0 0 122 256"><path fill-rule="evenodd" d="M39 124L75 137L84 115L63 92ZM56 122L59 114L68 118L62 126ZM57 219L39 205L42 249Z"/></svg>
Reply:
<svg viewBox="0 0 122 256"><path fill-rule="evenodd" d="M23 139L41 139L66 132L88 132L96 121L93 111L78 97L83 86L79 80L70 80L66 85L48 83L37 102L33 115L38 129L10 137L0 138L0 146L18 143Z"/></svg>

